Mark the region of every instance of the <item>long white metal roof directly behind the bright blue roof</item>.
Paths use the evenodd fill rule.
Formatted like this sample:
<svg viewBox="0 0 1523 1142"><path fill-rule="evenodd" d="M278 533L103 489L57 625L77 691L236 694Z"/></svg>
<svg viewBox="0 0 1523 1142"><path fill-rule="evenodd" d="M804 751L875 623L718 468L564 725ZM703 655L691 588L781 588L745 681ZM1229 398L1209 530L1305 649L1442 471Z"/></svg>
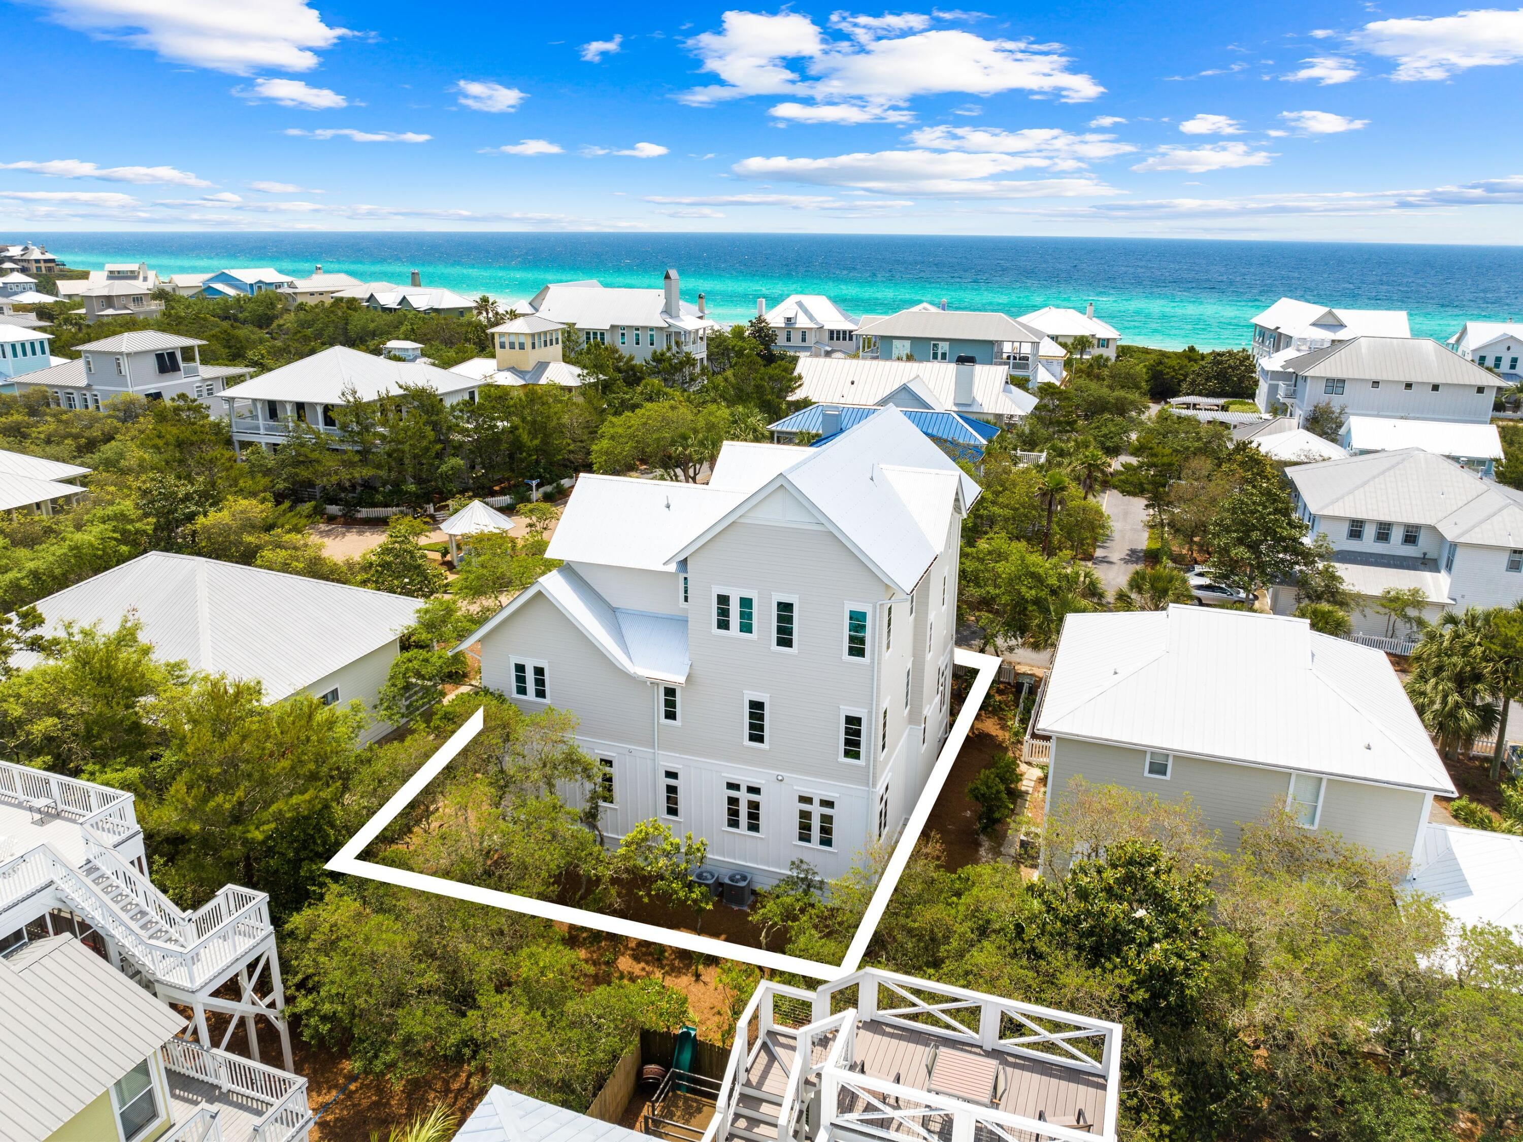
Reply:
<svg viewBox="0 0 1523 1142"><path fill-rule="evenodd" d="M850 356L801 356L797 362L798 391L818 405L882 405L905 385L920 381L937 402L937 411L956 410L973 416L1027 416L1037 397L1010 384L1004 365L972 365L973 404L958 405L956 365L950 361L871 361Z"/></svg>

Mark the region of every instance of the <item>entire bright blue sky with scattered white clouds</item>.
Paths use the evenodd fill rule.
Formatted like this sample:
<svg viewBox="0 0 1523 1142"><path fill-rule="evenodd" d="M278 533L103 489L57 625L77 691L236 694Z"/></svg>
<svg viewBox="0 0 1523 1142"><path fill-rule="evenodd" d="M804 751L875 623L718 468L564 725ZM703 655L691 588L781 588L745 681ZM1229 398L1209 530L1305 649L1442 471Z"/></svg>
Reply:
<svg viewBox="0 0 1523 1142"><path fill-rule="evenodd" d="M0 0L0 230L1523 242L1523 8Z"/></svg>

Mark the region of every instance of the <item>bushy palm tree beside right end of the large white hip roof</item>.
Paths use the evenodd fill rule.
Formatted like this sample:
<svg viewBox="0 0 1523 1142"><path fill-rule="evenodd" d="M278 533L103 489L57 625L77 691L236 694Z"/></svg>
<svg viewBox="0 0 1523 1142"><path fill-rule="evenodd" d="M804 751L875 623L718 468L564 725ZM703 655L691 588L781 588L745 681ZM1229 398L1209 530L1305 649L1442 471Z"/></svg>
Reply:
<svg viewBox="0 0 1523 1142"><path fill-rule="evenodd" d="M1497 725L1497 670L1486 653L1486 615L1445 611L1412 652L1407 697L1445 757L1470 749Z"/></svg>

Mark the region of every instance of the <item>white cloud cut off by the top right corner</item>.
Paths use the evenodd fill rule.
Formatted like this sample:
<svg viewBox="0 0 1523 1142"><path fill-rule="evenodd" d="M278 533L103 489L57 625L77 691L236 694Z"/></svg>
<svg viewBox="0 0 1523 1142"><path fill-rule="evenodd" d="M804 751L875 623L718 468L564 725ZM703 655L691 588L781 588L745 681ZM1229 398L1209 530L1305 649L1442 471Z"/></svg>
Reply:
<svg viewBox="0 0 1523 1142"><path fill-rule="evenodd" d="M1392 79L1448 79L1470 67L1523 61L1523 8L1375 20L1349 41L1371 55L1395 59Z"/></svg>

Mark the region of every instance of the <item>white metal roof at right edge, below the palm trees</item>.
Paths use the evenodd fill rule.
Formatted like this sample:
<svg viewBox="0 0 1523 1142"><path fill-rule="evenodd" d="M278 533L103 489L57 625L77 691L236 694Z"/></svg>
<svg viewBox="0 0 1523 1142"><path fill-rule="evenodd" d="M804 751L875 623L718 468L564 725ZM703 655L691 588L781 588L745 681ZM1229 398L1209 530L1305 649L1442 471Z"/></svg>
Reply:
<svg viewBox="0 0 1523 1142"><path fill-rule="evenodd" d="M1497 924L1523 938L1523 836L1429 824L1407 879L1461 924Z"/></svg>

